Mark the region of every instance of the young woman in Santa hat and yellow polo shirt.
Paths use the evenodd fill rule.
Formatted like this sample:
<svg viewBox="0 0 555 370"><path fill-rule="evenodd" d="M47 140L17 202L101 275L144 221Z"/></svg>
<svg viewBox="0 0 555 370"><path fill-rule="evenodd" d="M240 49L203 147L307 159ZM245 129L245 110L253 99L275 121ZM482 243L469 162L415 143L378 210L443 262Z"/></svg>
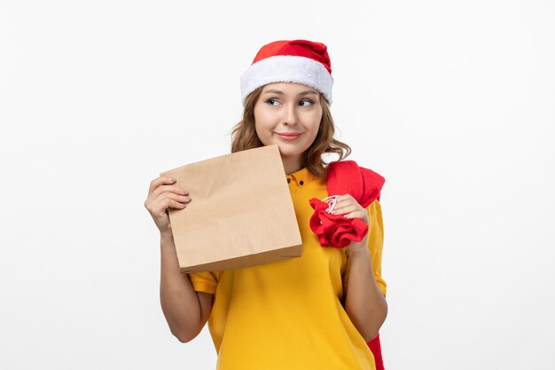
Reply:
<svg viewBox="0 0 555 370"><path fill-rule="evenodd" d="M181 342L192 340L208 321L219 369L376 368L367 342L387 316L379 201L364 209L349 194L337 198L334 215L369 226L363 240L346 248L323 247L309 226L309 201L331 195L322 154L342 160L350 153L333 138L326 49L306 40L264 45L241 77L245 109L232 135L232 152L279 147L301 230L301 257L181 274L167 209L184 209L191 197L171 178L150 185L145 207L160 230L162 310Z"/></svg>

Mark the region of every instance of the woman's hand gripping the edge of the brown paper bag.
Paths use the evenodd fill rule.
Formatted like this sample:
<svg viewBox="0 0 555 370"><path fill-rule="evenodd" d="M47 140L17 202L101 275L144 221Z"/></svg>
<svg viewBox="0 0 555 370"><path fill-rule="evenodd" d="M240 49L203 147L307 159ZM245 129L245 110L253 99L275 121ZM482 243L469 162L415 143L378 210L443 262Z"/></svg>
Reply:
<svg viewBox="0 0 555 370"><path fill-rule="evenodd" d="M160 230L160 234L171 233L168 209L184 209L191 201L189 193L180 187L174 186L176 179L170 177L158 177L151 181L145 208L150 212L154 224Z"/></svg>

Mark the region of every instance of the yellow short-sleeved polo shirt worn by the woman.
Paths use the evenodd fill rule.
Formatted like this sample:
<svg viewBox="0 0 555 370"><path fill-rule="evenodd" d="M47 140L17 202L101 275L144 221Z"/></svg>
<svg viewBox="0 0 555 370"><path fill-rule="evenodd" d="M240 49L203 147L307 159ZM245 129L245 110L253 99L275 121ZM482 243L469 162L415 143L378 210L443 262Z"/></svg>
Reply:
<svg viewBox="0 0 555 370"><path fill-rule="evenodd" d="M208 328L221 370L375 369L363 337L345 312L345 248L323 248L310 230L312 198L327 197L325 179L308 169L287 176L302 238L302 256L223 272L190 273L197 291L215 295ZM378 201L368 248L381 291L383 224Z"/></svg>

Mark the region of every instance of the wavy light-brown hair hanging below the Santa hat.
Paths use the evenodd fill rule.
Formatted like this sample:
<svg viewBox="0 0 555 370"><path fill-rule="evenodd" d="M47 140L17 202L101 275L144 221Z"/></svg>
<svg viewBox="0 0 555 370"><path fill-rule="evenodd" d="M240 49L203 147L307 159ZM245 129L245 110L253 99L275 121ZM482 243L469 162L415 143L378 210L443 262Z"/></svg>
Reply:
<svg viewBox="0 0 555 370"><path fill-rule="evenodd" d="M253 91L245 100L245 109L243 110L243 119L238 122L231 131L231 153L240 152L242 150L254 149L264 146L254 127L254 106L260 98L262 87ZM325 177L325 166L327 163L322 158L324 153L338 154L339 161L345 159L351 154L351 148L345 143L333 138L335 134L335 125L333 123L330 105L320 93L320 106L322 106L322 121L318 129L317 137L309 149L302 155L302 164L304 167L317 177Z"/></svg>

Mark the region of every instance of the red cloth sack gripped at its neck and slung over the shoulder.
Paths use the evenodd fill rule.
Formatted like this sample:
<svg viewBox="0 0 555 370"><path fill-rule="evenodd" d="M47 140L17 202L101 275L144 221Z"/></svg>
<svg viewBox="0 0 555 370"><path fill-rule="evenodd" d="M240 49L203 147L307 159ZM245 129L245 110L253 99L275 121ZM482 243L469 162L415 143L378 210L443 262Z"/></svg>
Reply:
<svg viewBox="0 0 555 370"><path fill-rule="evenodd" d="M327 172L328 195L350 194L363 208L379 200L386 181L371 169L358 167L356 161L332 161ZM313 198L310 206L315 210L310 217L310 229L317 234L322 247L347 247L352 240L363 240L368 232L368 224L360 218L328 213L328 204L324 201Z"/></svg>

